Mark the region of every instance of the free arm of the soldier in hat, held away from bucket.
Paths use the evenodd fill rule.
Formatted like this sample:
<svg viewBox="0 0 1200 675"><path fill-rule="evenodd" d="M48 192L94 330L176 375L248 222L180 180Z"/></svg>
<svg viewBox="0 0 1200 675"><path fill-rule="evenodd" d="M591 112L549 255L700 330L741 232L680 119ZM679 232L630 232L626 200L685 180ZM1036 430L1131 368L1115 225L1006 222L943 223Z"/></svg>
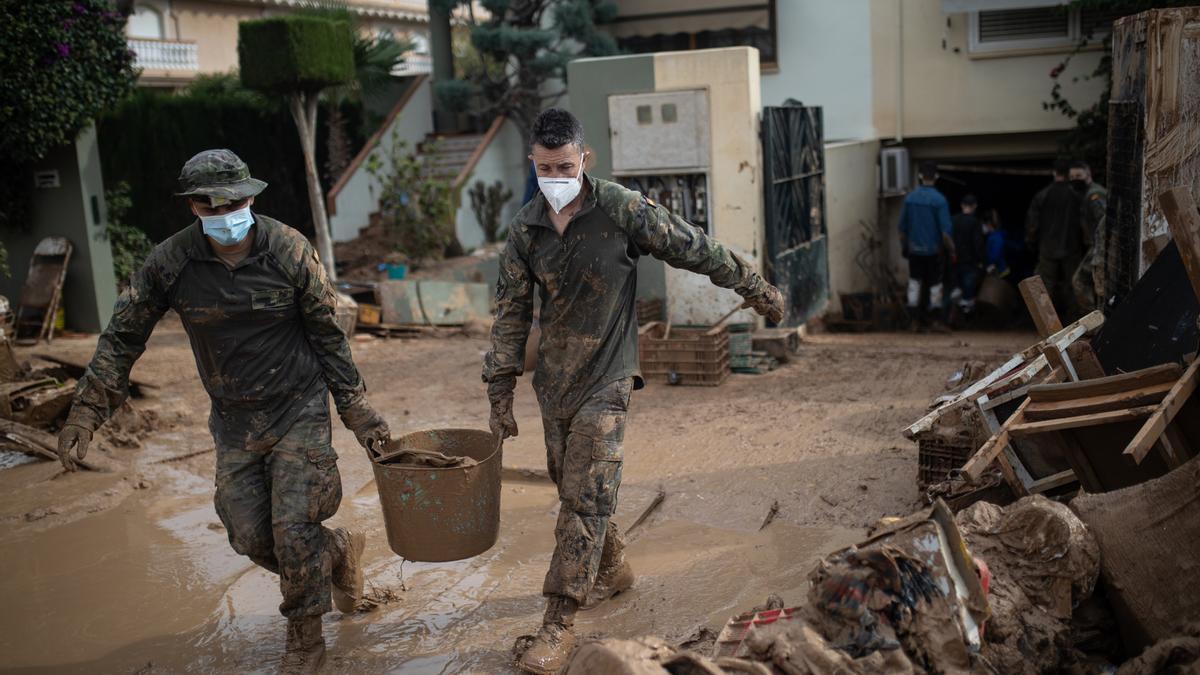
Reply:
<svg viewBox="0 0 1200 675"><path fill-rule="evenodd" d="M71 450L84 459L92 432L128 398L133 363L145 352L150 333L167 311L169 283L162 276L167 265L156 253L118 297L108 328L96 341L96 353L76 387L71 412L59 432L59 460L67 471L76 470Z"/></svg>

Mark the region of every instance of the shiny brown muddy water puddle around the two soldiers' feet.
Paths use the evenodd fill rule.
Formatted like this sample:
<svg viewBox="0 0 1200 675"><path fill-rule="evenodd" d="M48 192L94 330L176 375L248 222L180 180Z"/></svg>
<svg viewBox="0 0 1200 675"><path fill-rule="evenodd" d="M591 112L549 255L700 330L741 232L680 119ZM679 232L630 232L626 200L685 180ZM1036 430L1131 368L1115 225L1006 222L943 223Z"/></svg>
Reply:
<svg viewBox="0 0 1200 675"><path fill-rule="evenodd" d="M286 622L277 579L236 556L210 496L133 496L120 507L0 545L4 665L46 671L274 671ZM403 562L386 546L374 484L332 524L368 536L370 613L325 615L335 671L509 671L514 640L536 628L553 548L554 489L505 482L500 538L451 563ZM638 584L582 613L583 635L684 637L781 592L803 597L808 571L857 531L774 524L736 532L649 522L629 545Z"/></svg>

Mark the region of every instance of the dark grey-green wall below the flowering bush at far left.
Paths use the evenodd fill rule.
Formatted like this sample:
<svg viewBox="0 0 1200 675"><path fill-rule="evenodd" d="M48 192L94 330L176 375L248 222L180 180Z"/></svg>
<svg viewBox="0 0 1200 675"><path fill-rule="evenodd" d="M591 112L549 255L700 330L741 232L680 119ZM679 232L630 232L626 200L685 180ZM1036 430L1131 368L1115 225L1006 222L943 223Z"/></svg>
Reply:
<svg viewBox="0 0 1200 675"><path fill-rule="evenodd" d="M104 237L108 214L95 127L85 129L73 145L54 150L32 167L34 172L47 169L58 172L59 187L35 189L29 231L5 233L12 276L0 274L0 294L10 299L16 312L37 243L46 237L65 237L73 246L62 288L66 325L98 333L108 324L116 303L116 280L113 251ZM32 183L29 174L26 178Z"/></svg>

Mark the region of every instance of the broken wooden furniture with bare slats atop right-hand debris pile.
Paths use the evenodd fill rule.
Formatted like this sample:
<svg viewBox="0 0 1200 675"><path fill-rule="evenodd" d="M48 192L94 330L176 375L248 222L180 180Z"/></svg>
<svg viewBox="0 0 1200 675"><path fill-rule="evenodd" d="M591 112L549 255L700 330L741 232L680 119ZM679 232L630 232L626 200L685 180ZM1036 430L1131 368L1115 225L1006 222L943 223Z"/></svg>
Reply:
<svg viewBox="0 0 1200 675"><path fill-rule="evenodd" d="M962 472L967 479L1000 462L1016 494L1079 480L1088 492L1136 485L1165 474L1200 449L1200 359L1183 371L1166 364L1135 372L1030 387L1028 398ZM1186 414L1181 411L1188 408ZM1018 455L1013 441L1027 452ZM1156 450L1151 453L1151 450ZM1069 472L1033 478L1025 464L1061 458Z"/></svg>

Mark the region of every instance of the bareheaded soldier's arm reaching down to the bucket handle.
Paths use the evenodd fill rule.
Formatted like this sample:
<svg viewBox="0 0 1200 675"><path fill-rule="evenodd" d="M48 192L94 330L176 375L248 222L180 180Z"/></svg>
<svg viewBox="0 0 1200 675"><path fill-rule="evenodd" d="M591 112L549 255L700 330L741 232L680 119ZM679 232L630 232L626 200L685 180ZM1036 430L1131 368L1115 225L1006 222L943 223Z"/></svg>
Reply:
<svg viewBox="0 0 1200 675"><path fill-rule="evenodd" d="M488 424L498 437L517 435L512 416L512 390L517 376L524 372L526 342L533 324L533 273L517 243L516 225L509 228L509 240L500 256L500 275L496 283L496 322L492 324L492 350L484 357L484 382L491 404Z"/></svg>

